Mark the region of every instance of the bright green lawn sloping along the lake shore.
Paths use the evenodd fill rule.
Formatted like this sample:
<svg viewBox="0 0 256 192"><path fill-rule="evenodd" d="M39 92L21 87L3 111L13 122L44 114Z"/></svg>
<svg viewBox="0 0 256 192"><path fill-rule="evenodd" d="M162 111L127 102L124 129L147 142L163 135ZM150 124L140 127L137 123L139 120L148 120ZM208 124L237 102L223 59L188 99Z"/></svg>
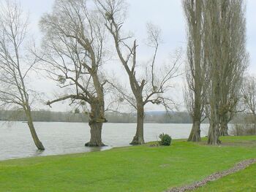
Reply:
<svg viewBox="0 0 256 192"><path fill-rule="evenodd" d="M143 145L0 161L0 191L165 191L256 158L256 137L224 137L222 141L221 147L179 139L170 147ZM255 187L255 170L256 166L249 167L207 188L219 191L225 188L223 183L237 181L245 188Z"/></svg>

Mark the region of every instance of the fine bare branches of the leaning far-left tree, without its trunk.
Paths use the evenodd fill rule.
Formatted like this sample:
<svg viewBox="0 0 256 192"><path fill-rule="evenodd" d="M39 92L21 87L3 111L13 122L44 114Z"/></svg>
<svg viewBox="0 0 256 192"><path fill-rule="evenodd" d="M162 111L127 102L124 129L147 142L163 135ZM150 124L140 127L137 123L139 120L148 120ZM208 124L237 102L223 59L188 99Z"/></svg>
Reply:
<svg viewBox="0 0 256 192"><path fill-rule="evenodd" d="M29 104L29 93L25 85L26 74L36 61L26 69L21 52L26 38L28 18L18 4L6 1L0 10L0 98L3 103ZM25 18L25 19L24 19ZM23 72L23 69L26 69Z"/></svg>

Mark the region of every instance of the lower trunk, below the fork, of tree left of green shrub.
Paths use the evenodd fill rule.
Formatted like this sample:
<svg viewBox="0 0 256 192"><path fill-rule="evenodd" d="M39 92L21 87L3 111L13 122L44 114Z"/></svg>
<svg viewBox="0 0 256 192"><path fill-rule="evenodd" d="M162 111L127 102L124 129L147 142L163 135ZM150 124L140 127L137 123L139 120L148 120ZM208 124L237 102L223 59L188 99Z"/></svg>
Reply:
<svg viewBox="0 0 256 192"><path fill-rule="evenodd" d="M130 145L142 145L144 144L144 134L143 134L143 124L144 124L144 106L143 104L137 104L137 128L135 137L133 137Z"/></svg>

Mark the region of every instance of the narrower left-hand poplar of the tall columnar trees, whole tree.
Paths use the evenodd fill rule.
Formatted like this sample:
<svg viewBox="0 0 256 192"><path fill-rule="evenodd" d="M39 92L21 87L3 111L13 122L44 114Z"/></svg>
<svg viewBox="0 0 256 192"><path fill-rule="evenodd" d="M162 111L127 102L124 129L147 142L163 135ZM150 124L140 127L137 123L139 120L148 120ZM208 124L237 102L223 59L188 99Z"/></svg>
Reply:
<svg viewBox="0 0 256 192"><path fill-rule="evenodd" d="M184 0L183 7L187 19L187 88L184 99L192 117L193 125L188 141L200 142L200 123L206 104L208 88L208 66L204 53L203 0Z"/></svg>

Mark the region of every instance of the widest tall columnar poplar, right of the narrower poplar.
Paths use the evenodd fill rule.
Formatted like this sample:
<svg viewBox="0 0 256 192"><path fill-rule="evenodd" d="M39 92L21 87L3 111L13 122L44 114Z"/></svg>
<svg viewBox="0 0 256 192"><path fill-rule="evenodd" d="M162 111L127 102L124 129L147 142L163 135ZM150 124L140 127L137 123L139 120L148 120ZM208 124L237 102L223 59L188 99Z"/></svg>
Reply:
<svg viewBox="0 0 256 192"><path fill-rule="evenodd" d="M238 83L241 77L239 70L242 70L242 74L244 72L244 58L246 58L244 1L206 1L203 14L206 28L204 46L211 71L208 144L217 145L220 142L221 118L234 105L230 104L228 110L224 110L228 98L233 98L233 92L237 91L236 86L231 84ZM236 99L232 101L236 103Z"/></svg>

